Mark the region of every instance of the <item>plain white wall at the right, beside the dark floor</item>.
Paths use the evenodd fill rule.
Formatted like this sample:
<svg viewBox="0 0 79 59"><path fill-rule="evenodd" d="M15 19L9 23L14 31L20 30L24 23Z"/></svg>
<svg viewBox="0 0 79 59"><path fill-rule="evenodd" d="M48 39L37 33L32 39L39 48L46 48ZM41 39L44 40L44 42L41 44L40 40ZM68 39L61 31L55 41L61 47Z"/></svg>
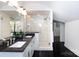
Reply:
<svg viewBox="0 0 79 59"><path fill-rule="evenodd" d="M79 20L65 24L65 46L79 56Z"/></svg>

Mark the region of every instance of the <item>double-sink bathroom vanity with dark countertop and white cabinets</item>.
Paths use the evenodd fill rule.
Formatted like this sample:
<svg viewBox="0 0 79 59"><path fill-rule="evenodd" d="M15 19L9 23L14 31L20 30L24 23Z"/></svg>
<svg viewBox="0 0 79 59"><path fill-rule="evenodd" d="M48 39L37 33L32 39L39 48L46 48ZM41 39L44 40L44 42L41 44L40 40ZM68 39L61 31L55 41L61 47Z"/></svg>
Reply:
<svg viewBox="0 0 79 59"><path fill-rule="evenodd" d="M22 41L17 41L12 45L0 50L0 57L32 57L37 47L37 36L26 35Z"/></svg>

